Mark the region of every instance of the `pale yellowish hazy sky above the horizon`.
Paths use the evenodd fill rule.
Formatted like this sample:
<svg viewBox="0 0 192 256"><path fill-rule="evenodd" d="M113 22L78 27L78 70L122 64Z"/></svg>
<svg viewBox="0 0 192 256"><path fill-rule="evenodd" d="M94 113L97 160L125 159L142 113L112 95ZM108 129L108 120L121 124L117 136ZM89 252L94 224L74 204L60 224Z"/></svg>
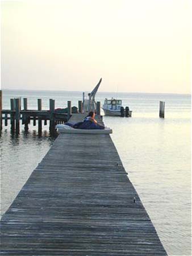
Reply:
<svg viewBox="0 0 192 256"><path fill-rule="evenodd" d="M3 89L190 93L190 0L1 6Z"/></svg>

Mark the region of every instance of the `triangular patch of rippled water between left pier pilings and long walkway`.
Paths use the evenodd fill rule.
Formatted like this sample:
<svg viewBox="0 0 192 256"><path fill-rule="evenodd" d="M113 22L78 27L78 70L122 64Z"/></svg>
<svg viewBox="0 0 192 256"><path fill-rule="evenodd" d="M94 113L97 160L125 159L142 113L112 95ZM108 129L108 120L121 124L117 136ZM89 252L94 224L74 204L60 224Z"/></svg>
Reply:
<svg viewBox="0 0 192 256"><path fill-rule="evenodd" d="M57 134L48 130L20 130L12 133L9 127L1 131L1 215L26 183L31 172L47 153Z"/></svg>

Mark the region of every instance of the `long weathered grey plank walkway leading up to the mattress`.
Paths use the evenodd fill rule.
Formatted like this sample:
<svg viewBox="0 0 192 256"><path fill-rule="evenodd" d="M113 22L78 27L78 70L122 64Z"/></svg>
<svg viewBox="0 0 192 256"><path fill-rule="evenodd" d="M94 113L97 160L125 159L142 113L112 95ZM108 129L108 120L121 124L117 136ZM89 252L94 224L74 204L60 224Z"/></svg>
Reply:
<svg viewBox="0 0 192 256"><path fill-rule="evenodd" d="M60 134L2 217L1 254L166 252L110 135Z"/></svg>

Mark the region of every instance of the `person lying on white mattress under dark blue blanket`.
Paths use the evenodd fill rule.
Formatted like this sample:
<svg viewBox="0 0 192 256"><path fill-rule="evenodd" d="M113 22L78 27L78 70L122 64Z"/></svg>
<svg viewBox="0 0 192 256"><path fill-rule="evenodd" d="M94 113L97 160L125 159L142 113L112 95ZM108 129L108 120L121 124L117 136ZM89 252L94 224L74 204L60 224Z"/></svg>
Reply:
<svg viewBox="0 0 192 256"><path fill-rule="evenodd" d="M95 113L93 111L85 117L83 122L78 122L72 125L72 123L65 123L65 125L71 126L75 129L105 129L105 126L100 125L97 120L95 120Z"/></svg>

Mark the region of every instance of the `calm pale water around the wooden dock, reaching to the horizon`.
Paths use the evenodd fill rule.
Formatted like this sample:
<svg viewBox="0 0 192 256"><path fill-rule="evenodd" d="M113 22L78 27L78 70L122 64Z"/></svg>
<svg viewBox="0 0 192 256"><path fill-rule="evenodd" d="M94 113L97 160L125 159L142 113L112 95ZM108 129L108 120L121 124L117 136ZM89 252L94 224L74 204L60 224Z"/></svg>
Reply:
<svg viewBox="0 0 192 256"><path fill-rule="evenodd" d="M42 98L48 109L49 98L56 108L67 100L77 105L80 92L3 91L3 109L10 108L10 98L27 97L28 108L37 109ZM97 100L116 97L116 93L99 93ZM132 118L104 117L113 129L112 140L140 198L147 209L158 236L169 255L191 255L191 152L189 95L118 93L124 106L133 110ZM165 119L158 118L158 102L165 101ZM30 126L18 136L3 127L1 134L2 214L14 200L31 172L49 150L54 139L48 126L43 135Z"/></svg>

